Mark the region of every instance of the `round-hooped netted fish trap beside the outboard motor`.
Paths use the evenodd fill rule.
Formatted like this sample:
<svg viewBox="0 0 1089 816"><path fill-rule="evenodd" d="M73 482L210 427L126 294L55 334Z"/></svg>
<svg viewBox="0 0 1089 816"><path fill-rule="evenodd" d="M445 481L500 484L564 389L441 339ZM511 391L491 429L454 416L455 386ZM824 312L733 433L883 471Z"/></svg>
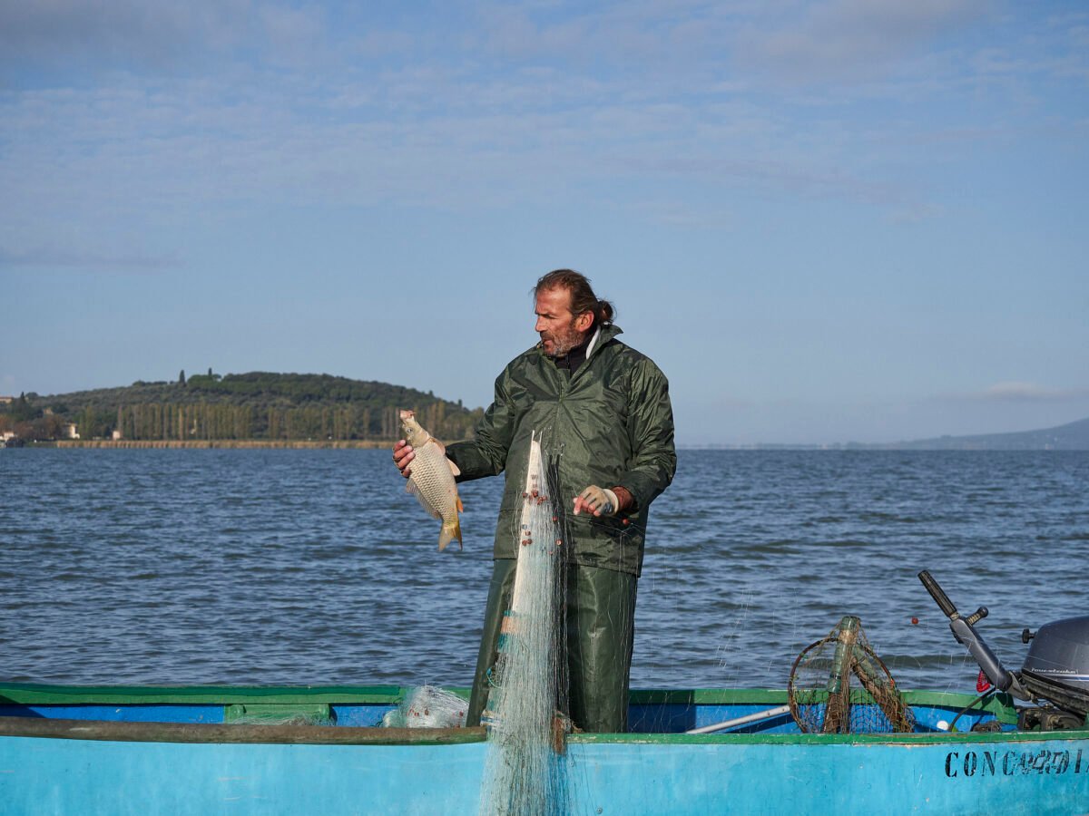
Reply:
<svg viewBox="0 0 1089 816"><path fill-rule="evenodd" d="M802 651L791 668L786 691L791 714L803 733L915 730L910 707L853 615L844 616L827 638Z"/></svg>

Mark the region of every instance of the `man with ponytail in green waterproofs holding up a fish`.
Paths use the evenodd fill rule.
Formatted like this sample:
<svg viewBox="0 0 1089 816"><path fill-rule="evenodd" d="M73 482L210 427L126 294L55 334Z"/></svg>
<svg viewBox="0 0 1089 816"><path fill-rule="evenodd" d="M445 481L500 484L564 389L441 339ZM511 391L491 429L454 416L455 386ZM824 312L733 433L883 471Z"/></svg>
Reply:
<svg viewBox="0 0 1089 816"><path fill-rule="evenodd" d="M555 270L533 292L540 342L495 380L475 438L445 448L458 482L506 472L466 725L479 725L487 703L513 593L530 435L543 431L546 453L559 454L553 472L563 505L571 503L560 520L568 558L568 713L584 731L623 732L647 514L676 470L669 384L650 358L616 339L612 304L599 300L584 275ZM413 449L404 440L393 460L407 478Z"/></svg>

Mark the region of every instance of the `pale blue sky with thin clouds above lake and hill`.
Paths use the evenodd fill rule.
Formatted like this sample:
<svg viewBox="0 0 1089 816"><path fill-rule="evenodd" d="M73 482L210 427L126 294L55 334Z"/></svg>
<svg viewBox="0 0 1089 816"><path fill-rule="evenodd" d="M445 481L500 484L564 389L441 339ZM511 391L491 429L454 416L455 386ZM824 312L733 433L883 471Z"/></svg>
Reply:
<svg viewBox="0 0 1089 816"><path fill-rule="evenodd" d="M0 0L0 395L486 406L590 277L681 445L1089 417L1089 7Z"/></svg>

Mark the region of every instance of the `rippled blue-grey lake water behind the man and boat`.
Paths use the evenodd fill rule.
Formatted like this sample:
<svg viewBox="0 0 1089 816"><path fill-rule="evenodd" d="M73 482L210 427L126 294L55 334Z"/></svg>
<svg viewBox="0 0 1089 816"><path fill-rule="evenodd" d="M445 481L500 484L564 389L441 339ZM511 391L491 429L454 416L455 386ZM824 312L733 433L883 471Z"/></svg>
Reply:
<svg viewBox="0 0 1089 816"><path fill-rule="evenodd" d="M438 553L388 450L0 450L0 677L466 685L500 486ZM971 691L916 573L1017 668L1023 628L1089 614L1087 565L1089 453L682 450L632 684L784 688L854 614L901 685Z"/></svg>

